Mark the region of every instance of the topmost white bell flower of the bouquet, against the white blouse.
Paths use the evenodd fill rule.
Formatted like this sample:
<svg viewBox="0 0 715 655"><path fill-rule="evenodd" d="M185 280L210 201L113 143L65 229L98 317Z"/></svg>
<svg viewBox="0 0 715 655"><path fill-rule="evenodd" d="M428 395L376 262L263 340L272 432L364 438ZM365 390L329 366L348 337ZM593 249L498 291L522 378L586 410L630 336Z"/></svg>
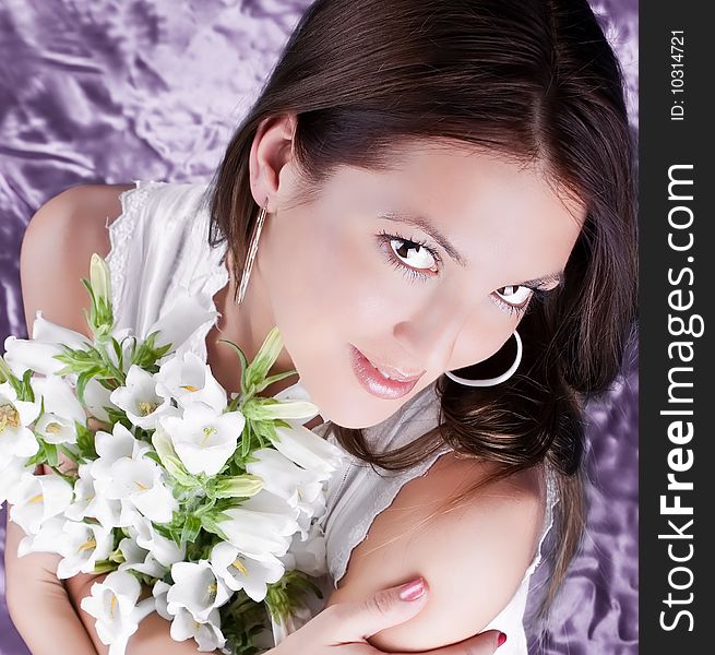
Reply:
<svg viewBox="0 0 715 655"><path fill-rule="evenodd" d="M212 298L195 296L186 287L179 287L174 294L174 299L169 310L141 335L142 340L145 340L150 334L158 331L154 341L155 346L171 344L171 349L166 357L171 352L178 350L201 325L218 315L213 308Z"/></svg>

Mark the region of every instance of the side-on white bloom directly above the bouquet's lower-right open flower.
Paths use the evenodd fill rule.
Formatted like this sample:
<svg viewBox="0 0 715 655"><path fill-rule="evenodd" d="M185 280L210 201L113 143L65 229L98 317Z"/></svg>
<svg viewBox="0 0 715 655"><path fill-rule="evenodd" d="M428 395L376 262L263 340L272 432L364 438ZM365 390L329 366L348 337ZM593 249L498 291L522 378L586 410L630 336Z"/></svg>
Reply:
<svg viewBox="0 0 715 655"><path fill-rule="evenodd" d="M219 521L218 527L229 544L259 558L266 553L285 555L293 534L299 528L298 510L263 489L245 500L240 508L224 510L224 514L229 520Z"/></svg>

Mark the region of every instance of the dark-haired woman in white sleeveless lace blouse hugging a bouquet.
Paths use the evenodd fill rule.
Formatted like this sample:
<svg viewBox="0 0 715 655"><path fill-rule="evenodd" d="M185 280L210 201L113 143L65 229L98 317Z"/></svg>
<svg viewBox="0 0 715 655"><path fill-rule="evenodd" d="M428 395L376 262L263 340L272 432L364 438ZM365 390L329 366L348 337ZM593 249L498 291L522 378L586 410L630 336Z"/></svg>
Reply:
<svg viewBox="0 0 715 655"><path fill-rule="evenodd" d="M219 337L253 355L277 325L286 348L273 372L298 370L321 408L310 427L353 455L326 519L339 546L329 548L325 605L336 609L281 655L362 635L386 652L437 648L492 627L508 634L500 653L526 652L519 610L550 514L559 534L545 610L583 528L583 402L618 373L635 313L622 93L586 2L318 1L231 140L207 206L201 186L78 188L33 218L28 324L47 308L85 329L78 281L93 251L109 253L134 324L170 300L172 287L150 282L183 276L221 311L195 344L218 380L236 389ZM81 242L43 255L52 229L80 224ZM57 298L35 290L40 262L45 278L67 281ZM364 463L402 473L381 481ZM371 486L377 498L361 495ZM27 581L51 573L52 558L17 560L17 537L10 524L13 619L49 652L23 608L36 607ZM429 591L414 617L378 624L344 609L416 575ZM464 580L473 587L455 586ZM67 596L52 587L59 597L34 617L61 617L72 652L103 650L92 619L79 612L87 636L67 603L88 584L71 581ZM156 645L195 652L162 620L143 623L130 652Z"/></svg>

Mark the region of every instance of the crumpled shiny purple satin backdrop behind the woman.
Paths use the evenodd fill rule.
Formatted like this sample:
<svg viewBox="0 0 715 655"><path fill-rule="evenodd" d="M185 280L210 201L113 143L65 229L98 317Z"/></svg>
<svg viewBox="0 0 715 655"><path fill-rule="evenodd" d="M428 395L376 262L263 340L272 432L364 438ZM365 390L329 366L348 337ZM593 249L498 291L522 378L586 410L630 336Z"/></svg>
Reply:
<svg viewBox="0 0 715 655"><path fill-rule="evenodd" d="M5 0L0 7L0 338L25 336L27 222L81 182L207 180L309 0ZM593 1L637 126L637 3ZM637 652L637 362L589 409L583 550L533 653ZM4 512L3 512L4 514ZM4 541L4 515L0 544ZM538 573L534 584L541 584ZM0 592L4 576L0 575ZM3 596L4 598L4 596ZM27 653L0 603L0 654Z"/></svg>

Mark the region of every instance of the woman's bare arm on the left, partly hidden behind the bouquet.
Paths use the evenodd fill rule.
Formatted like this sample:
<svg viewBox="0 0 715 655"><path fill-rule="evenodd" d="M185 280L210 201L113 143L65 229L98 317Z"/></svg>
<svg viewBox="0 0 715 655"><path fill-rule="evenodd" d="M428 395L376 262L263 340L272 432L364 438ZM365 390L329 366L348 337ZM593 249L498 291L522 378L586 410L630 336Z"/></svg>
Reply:
<svg viewBox="0 0 715 655"><path fill-rule="evenodd" d="M20 272L28 334L37 309L50 321L90 335L82 309L90 298L82 284L88 277L93 252L109 252L107 218L121 212L119 193L133 184L81 186L63 191L45 203L33 216L23 238ZM17 558L17 544L24 536L12 522L8 525L5 549L7 596L13 622L36 654L63 653L107 655L99 641L94 617L80 607L92 584L104 575L80 574L59 581L59 556L31 553ZM41 630L37 627L43 626ZM169 622L156 614L146 617L129 641L128 654L167 652L196 653L191 641L176 642ZM47 629L46 629L47 628ZM58 644L61 639L61 644Z"/></svg>

